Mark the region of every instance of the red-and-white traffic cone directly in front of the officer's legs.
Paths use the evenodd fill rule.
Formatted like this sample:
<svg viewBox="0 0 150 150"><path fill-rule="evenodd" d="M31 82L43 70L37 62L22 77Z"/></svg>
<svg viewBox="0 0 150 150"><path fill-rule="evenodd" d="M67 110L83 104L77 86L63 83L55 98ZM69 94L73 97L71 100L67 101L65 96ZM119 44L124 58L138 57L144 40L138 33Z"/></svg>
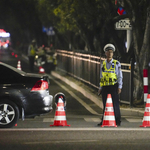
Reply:
<svg viewBox="0 0 150 150"><path fill-rule="evenodd" d="M114 108L113 108L111 94L107 95L105 113L104 113L104 117L103 117L103 124L101 125L101 127L104 127L104 126L117 127L116 121L115 121Z"/></svg>

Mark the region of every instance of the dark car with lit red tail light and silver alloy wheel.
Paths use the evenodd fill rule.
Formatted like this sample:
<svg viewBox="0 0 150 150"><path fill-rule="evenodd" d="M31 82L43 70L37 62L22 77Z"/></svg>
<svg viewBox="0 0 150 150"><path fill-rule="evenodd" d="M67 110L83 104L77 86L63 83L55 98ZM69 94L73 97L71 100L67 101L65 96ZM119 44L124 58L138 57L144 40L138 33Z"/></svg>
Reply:
<svg viewBox="0 0 150 150"><path fill-rule="evenodd" d="M0 128L13 127L19 118L52 110L49 78L20 71L0 62Z"/></svg>

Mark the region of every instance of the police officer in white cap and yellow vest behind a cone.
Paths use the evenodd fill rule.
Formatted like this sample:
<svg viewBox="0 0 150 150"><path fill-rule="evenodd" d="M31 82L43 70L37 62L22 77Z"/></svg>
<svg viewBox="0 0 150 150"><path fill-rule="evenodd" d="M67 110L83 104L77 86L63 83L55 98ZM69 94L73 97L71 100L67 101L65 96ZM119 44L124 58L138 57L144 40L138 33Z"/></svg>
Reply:
<svg viewBox="0 0 150 150"><path fill-rule="evenodd" d="M119 94L122 89L122 71L121 64L119 61L113 59L113 53L115 52L115 46L113 44L107 44L104 47L104 52L106 55L106 60L103 61L100 69L100 87L98 90L98 94L102 94L103 100L103 114L105 110L107 95L111 94L115 120L118 126L121 125L121 114L119 107ZM102 125L102 121L98 124L98 126Z"/></svg>

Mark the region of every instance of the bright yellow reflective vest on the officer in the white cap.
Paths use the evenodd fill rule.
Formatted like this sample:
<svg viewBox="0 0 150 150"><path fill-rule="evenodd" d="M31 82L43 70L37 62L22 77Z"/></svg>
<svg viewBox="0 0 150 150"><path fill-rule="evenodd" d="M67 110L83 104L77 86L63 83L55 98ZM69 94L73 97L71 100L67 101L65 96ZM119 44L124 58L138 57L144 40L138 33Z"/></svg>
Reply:
<svg viewBox="0 0 150 150"><path fill-rule="evenodd" d="M109 86L117 83L117 75L115 73L117 60L112 61L110 69L106 67L106 61L103 61L102 78L100 80L100 86Z"/></svg>

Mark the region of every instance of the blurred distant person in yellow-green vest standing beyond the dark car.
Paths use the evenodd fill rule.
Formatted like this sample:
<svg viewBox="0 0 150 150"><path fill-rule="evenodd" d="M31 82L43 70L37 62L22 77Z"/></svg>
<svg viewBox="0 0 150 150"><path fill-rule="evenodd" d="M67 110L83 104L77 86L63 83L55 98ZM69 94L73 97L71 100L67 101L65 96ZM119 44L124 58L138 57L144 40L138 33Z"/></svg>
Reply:
<svg viewBox="0 0 150 150"><path fill-rule="evenodd" d="M29 45L28 48L29 67L31 72L34 71L34 60L36 51L37 51L36 41L32 40L32 43Z"/></svg>

